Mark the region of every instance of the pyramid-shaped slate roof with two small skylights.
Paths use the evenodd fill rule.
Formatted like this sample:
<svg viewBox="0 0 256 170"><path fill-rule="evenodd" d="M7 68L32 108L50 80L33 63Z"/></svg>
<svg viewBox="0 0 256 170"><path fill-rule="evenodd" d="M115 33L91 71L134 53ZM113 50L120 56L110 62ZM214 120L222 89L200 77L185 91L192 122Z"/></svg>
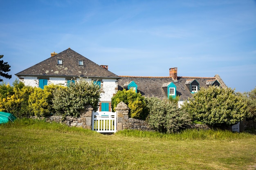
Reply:
<svg viewBox="0 0 256 170"><path fill-rule="evenodd" d="M58 59L62 59L62 65L58 64ZM79 60L83 60L83 66L79 66ZM47 77L80 76L89 78L120 78L114 73L108 71L106 68L92 62L88 58L83 57L83 55L76 53L70 48L16 74L18 77L22 75Z"/></svg>

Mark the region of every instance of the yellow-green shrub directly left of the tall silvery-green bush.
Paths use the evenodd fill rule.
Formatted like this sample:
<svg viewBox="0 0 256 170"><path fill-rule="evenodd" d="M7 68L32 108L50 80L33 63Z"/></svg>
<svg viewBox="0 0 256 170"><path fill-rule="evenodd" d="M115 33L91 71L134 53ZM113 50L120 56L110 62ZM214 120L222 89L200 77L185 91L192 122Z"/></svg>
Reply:
<svg viewBox="0 0 256 170"><path fill-rule="evenodd" d="M54 113L52 106L53 93L56 89L66 88L61 85L50 84L42 88L34 88L34 92L29 96L29 111L31 115L45 117Z"/></svg>

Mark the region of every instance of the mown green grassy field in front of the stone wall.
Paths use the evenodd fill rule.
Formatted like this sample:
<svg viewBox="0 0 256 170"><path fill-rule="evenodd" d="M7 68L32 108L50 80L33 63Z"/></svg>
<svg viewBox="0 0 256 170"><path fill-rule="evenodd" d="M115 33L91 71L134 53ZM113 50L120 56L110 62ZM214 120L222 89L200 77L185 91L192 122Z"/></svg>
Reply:
<svg viewBox="0 0 256 170"><path fill-rule="evenodd" d="M31 119L0 125L1 170L254 170L256 135L125 130L102 135Z"/></svg>

